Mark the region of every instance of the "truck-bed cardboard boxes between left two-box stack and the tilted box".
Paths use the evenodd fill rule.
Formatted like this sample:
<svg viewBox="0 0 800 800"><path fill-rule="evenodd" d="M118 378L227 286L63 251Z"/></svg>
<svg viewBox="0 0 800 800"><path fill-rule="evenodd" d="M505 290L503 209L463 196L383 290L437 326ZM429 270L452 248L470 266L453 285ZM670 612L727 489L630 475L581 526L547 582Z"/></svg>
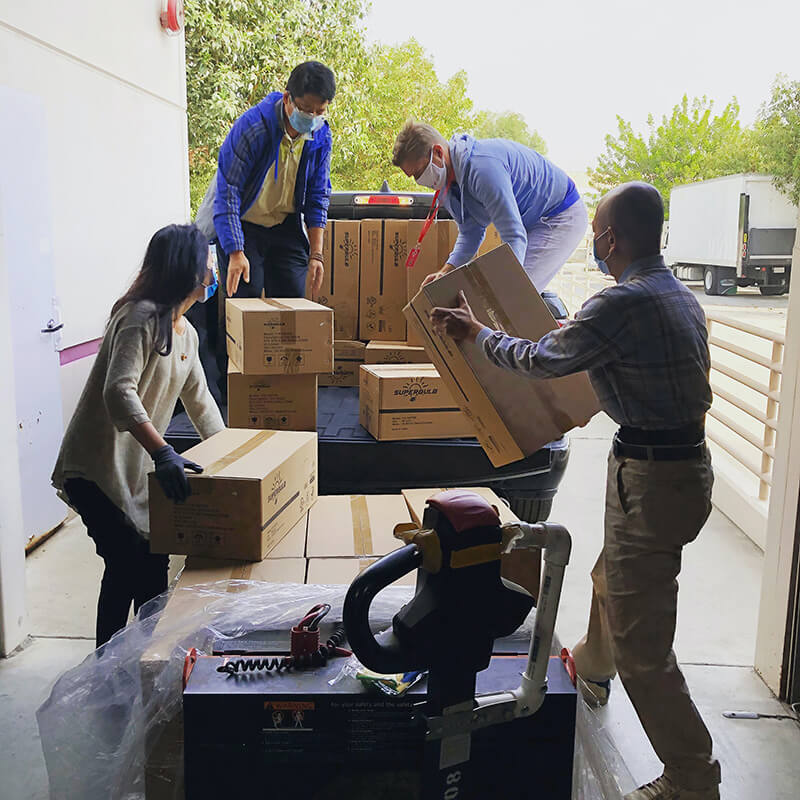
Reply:
<svg viewBox="0 0 800 800"><path fill-rule="evenodd" d="M361 424L379 440L474 435L403 313L422 281L446 263L458 234L452 220L435 222L408 269L408 252L424 224L331 220L325 231L326 272L317 300L334 312L334 369L319 383L358 386ZM487 242L496 238L487 235Z"/></svg>

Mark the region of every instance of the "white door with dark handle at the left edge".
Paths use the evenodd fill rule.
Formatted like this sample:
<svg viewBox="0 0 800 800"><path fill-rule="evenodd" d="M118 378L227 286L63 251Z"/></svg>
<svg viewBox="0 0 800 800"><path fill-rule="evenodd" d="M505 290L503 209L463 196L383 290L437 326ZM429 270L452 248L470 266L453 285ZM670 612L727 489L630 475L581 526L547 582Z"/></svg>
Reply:
<svg viewBox="0 0 800 800"><path fill-rule="evenodd" d="M8 271L23 545L66 515L50 485L63 434L56 349L60 319L46 114L37 98L0 87L0 119L0 225Z"/></svg>

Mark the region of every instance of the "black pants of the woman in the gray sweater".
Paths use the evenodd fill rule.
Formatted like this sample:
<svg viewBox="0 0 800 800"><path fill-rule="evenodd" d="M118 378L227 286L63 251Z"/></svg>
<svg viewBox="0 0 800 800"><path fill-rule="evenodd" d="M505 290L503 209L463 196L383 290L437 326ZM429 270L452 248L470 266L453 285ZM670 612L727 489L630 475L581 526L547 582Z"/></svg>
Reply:
<svg viewBox="0 0 800 800"><path fill-rule="evenodd" d="M96 642L100 647L125 627L131 603L138 613L148 600L166 591L169 556L151 553L147 539L97 484L70 478L64 491L106 565L97 600Z"/></svg>

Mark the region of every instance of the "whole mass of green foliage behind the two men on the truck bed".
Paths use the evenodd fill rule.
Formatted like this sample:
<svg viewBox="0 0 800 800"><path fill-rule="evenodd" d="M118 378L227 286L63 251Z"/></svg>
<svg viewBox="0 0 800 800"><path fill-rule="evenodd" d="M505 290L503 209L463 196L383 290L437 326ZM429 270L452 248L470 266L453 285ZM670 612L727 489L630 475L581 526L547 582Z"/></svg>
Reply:
<svg viewBox="0 0 800 800"><path fill-rule="evenodd" d="M544 152L519 114L475 114L466 72L439 80L414 39L366 44L367 0L187 0L186 90L189 170L196 211L236 118L286 85L296 64L315 59L336 75L328 121L334 189L418 189L392 166L392 145L408 117L447 137L461 130L504 136Z"/></svg>

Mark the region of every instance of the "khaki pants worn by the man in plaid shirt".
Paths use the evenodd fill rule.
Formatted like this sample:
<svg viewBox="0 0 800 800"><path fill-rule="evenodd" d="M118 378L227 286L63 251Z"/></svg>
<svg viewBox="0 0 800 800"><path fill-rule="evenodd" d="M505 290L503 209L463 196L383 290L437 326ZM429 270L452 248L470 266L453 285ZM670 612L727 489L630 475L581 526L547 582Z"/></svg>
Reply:
<svg viewBox="0 0 800 800"><path fill-rule="evenodd" d="M578 674L618 672L669 778L685 789L720 781L711 736L672 642L683 546L711 512L711 459L608 459L605 541L592 569L589 628L575 647Z"/></svg>

